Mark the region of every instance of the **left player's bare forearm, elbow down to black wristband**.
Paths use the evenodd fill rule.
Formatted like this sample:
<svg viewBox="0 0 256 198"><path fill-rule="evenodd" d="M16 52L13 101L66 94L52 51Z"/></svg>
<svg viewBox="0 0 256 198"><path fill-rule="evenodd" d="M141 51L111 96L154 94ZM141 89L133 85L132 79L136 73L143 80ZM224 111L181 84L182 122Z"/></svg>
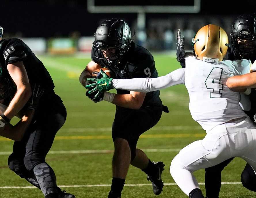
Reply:
<svg viewBox="0 0 256 198"><path fill-rule="evenodd" d="M12 119L23 108L31 94L30 85L18 88L16 94L3 114L7 118Z"/></svg>

